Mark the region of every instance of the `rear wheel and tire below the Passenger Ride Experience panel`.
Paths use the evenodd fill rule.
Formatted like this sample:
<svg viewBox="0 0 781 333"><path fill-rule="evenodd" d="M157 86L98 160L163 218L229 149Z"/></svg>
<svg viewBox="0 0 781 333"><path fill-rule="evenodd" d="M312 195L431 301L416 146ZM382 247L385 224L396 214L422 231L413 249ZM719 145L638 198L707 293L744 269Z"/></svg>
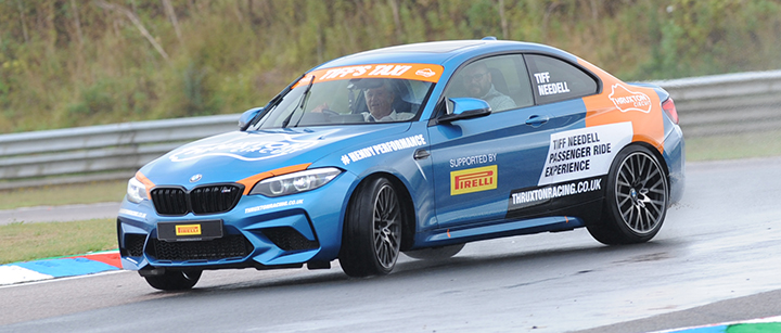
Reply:
<svg viewBox="0 0 781 333"><path fill-rule="evenodd" d="M662 228L669 190L667 175L651 151L630 145L618 153L607 174L605 206L600 223L588 226L607 245L643 243Z"/></svg>

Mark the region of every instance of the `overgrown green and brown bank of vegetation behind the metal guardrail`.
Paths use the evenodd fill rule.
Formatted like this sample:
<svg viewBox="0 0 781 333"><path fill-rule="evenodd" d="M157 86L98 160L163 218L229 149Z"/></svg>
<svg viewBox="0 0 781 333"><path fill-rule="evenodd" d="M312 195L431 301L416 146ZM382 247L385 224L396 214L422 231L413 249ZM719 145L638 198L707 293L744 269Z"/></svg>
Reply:
<svg viewBox="0 0 781 333"><path fill-rule="evenodd" d="M781 0L0 0L0 132L240 113L324 61L541 42L627 80L781 68Z"/></svg>

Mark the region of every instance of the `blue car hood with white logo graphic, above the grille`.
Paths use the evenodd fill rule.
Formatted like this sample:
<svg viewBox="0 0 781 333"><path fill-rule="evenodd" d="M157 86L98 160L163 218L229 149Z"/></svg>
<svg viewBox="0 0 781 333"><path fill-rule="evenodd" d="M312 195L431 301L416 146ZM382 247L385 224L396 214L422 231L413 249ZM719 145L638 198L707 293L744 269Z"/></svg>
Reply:
<svg viewBox="0 0 781 333"><path fill-rule="evenodd" d="M158 185L234 182L277 168L316 163L364 144L367 138L392 137L408 129L405 123L228 132L182 145L140 171Z"/></svg>

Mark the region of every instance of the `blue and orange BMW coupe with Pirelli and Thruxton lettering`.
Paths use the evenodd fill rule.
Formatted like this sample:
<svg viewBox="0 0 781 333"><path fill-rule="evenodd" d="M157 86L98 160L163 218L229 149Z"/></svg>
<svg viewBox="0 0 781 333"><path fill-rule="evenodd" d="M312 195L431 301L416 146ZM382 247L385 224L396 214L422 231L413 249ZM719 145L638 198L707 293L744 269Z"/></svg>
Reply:
<svg viewBox="0 0 781 333"><path fill-rule="evenodd" d="M117 218L125 269L159 290L206 269L387 274L399 253L586 227L651 240L683 192L669 94L555 48L425 42L327 62L239 130L142 167Z"/></svg>

